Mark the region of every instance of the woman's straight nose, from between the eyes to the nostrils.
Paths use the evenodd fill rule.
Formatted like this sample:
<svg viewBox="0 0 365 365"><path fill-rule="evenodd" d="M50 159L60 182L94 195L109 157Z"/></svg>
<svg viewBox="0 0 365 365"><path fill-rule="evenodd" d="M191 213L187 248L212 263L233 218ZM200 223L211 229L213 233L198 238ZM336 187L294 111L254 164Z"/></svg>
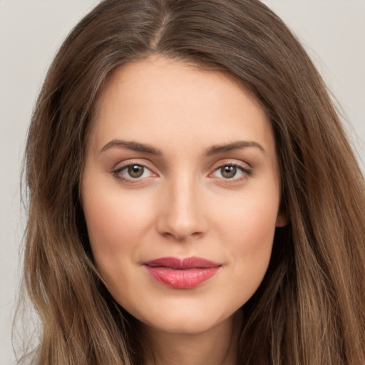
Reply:
<svg viewBox="0 0 365 365"><path fill-rule="evenodd" d="M177 180L165 185L159 199L158 232L180 242L200 238L207 231L200 184L188 178Z"/></svg>

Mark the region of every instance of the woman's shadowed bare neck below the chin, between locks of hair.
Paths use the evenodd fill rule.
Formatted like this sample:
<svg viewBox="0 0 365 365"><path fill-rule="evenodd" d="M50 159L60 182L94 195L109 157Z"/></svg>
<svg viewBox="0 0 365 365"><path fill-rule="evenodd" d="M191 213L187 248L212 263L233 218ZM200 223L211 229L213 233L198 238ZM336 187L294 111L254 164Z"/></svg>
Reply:
<svg viewBox="0 0 365 365"><path fill-rule="evenodd" d="M145 351L145 365L235 365L242 318L237 313L200 333L170 333L144 329L152 351Z"/></svg>

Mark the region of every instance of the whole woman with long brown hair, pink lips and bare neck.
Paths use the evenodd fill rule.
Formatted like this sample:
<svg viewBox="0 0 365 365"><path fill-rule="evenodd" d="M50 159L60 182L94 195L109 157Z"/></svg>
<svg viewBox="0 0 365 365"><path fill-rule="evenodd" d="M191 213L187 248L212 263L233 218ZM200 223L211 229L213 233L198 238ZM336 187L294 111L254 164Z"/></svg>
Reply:
<svg viewBox="0 0 365 365"><path fill-rule="evenodd" d="M106 0L26 147L39 364L364 363L364 178L259 1Z"/></svg>

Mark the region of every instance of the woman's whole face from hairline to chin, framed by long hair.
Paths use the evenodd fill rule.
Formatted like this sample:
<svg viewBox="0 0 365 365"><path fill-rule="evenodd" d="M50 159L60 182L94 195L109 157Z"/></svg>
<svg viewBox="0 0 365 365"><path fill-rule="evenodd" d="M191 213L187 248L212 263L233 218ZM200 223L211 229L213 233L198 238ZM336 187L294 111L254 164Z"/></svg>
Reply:
<svg viewBox="0 0 365 365"><path fill-rule="evenodd" d="M83 209L108 290L148 328L205 331L250 299L285 223L279 191L272 128L231 78L163 57L110 76Z"/></svg>

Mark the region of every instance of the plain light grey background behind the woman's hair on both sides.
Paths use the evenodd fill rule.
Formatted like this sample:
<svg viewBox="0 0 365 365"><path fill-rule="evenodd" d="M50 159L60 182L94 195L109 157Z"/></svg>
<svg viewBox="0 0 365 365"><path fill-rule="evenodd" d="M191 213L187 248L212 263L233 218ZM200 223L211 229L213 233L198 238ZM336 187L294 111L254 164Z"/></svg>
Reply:
<svg viewBox="0 0 365 365"><path fill-rule="evenodd" d="M264 2L304 43L339 101L365 171L365 0ZM24 230L19 172L31 111L61 41L97 3L0 0L0 365L14 361L11 322Z"/></svg>

